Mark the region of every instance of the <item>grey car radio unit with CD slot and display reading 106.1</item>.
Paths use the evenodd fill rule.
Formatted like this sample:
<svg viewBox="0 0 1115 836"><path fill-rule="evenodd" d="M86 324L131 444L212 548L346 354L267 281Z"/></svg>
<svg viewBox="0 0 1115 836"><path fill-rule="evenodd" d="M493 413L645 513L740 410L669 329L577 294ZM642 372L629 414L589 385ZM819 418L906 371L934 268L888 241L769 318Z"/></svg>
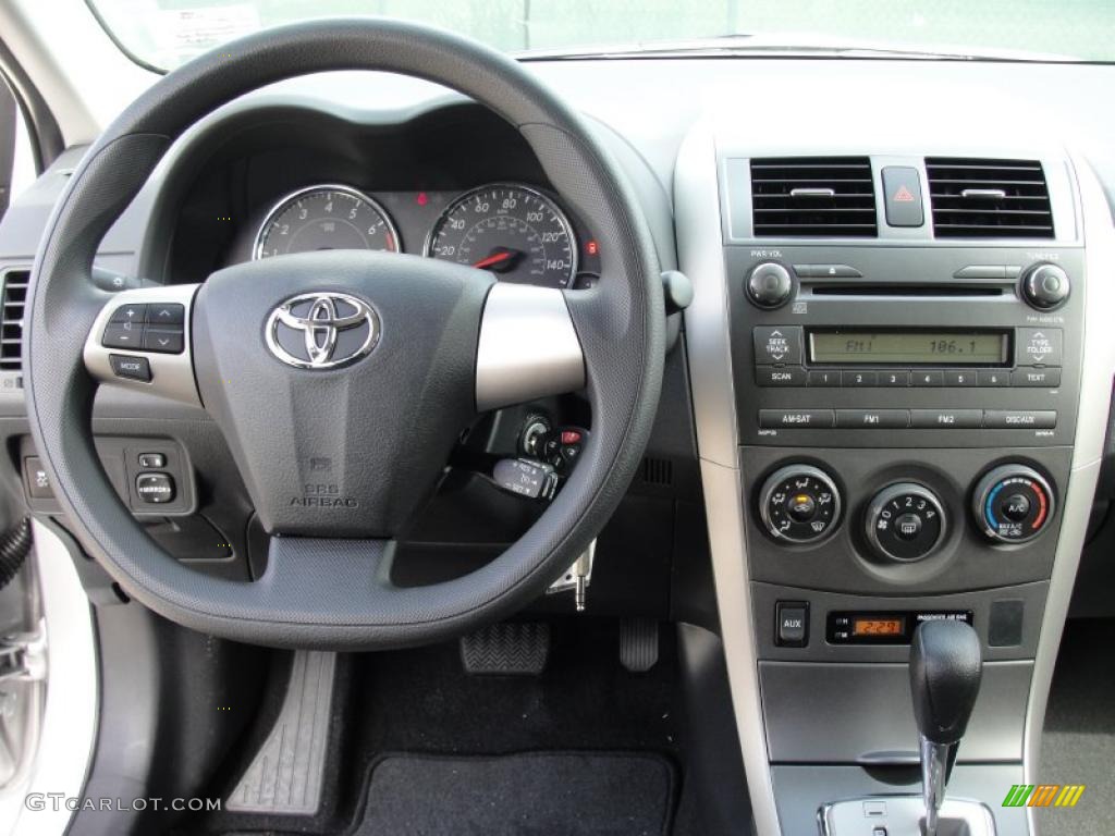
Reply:
<svg viewBox="0 0 1115 836"><path fill-rule="evenodd" d="M726 257L745 444L878 446L878 430L889 446L1072 439L1078 251L730 247Z"/></svg>

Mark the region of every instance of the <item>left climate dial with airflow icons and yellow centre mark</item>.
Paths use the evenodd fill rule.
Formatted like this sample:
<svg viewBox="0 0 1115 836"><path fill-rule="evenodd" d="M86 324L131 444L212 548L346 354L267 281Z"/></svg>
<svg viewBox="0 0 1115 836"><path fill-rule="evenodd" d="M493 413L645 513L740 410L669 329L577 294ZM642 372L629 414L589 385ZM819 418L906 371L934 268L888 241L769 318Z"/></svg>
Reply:
<svg viewBox="0 0 1115 836"><path fill-rule="evenodd" d="M789 465L763 484L759 514L770 536L813 543L828 534L840 519L840 492L824 470Z"/></svg>

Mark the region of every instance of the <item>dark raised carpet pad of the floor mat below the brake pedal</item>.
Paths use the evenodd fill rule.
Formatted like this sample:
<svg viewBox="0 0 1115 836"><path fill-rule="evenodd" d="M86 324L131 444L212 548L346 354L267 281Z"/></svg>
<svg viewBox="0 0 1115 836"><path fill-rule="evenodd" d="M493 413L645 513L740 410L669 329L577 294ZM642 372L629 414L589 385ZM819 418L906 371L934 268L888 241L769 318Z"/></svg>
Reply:
<svg viewBox="0 0 1115 836"><path fill-rule="evenodd" d="M388 755L353 836L663 836L673 784L655 755Z"/></svg>

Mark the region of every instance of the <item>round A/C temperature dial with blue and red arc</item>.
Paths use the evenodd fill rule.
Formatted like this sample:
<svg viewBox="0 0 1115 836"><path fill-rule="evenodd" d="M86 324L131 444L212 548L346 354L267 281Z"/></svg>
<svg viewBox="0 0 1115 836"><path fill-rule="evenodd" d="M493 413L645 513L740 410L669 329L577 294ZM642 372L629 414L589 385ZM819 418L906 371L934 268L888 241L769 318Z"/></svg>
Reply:
<svg viewBox="0 0 1115 836"><path fill-rule="evenodd" d="M979 480L972 511L980 531L991 539L1025 543L1038 536L1053 517L1053 489L1034 468L1004 465Z"/></svg>

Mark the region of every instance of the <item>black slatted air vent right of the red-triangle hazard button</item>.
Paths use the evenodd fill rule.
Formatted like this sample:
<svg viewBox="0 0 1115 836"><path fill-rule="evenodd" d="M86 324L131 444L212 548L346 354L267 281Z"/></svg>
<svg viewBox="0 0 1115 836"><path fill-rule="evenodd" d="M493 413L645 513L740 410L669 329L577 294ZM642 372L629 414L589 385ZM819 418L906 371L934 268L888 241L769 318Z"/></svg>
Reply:
<svg viewBox="0 0 1115 836"><path fill-rule="evenodd" d="M1053 207L1036 159L929 157L939 239L1051 239Z"/></svg>

